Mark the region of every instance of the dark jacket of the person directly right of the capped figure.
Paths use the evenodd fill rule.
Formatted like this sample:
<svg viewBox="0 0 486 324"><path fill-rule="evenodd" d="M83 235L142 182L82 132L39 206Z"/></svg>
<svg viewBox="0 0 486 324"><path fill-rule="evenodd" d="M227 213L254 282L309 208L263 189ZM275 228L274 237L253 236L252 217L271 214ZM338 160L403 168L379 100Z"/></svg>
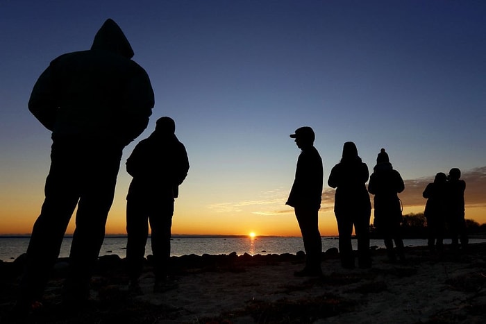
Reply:
<svg viewBox="0 0 486 324"><path fill-rule="evenodd" d="M341 214L369 214L371 202L366 189L369 178L367 165L358 157L340 162L330 171L328 185L336 188L334 212Z"/></svg>

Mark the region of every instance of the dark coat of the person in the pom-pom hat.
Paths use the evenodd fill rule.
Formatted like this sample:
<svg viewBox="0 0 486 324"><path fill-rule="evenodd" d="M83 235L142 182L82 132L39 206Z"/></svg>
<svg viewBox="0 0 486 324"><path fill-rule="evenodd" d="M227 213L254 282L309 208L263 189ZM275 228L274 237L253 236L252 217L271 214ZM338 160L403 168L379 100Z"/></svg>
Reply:
<svg viewBox="0 0 486 324"><path fill-rule="evenodd" d="M399 171L393 169L391 163L376 164L368 184L369 193L375 195L375 223L401 221L401 203L397 194L403 189L405 189L403 179Z"/></svg>

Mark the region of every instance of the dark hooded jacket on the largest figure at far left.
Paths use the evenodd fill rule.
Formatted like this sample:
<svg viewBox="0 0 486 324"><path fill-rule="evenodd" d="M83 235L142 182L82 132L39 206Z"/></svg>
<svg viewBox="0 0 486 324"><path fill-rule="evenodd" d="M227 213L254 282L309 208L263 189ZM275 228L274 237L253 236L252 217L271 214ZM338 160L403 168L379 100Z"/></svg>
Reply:
<svg viewBox="0 0 486 324"><path fill-rule="evenodd" d="M119 26L108 19L92 48L59 56L35 83L29 110L52 137L101 139L126 146L154 105L146 72Z"/></svg>

